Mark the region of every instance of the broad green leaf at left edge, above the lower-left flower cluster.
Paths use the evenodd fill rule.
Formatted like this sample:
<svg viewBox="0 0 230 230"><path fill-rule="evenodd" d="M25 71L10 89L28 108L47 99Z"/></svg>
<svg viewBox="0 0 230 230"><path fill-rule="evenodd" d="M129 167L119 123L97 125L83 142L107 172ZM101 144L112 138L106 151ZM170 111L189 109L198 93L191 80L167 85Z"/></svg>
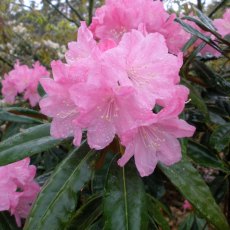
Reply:
<svg viewBox="0 0 230 230"><path fill-rule="evenodd" d="M38 125L0 143L0 165L6 165L60 144L62 139L49 135L50 124Z"/></svg>

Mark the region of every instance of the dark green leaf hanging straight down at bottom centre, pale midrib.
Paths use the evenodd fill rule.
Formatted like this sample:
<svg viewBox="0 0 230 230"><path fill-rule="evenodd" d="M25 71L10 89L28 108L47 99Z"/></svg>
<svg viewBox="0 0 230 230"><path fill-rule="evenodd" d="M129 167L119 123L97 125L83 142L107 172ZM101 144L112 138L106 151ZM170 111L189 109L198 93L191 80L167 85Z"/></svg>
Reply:
<svg viewBox="0 0 230 230"><path fill-rule="evenodd" d="M112 163L104 195L104 229L145 230L148 225L146 193L133 162L121 168Z"/></svg>

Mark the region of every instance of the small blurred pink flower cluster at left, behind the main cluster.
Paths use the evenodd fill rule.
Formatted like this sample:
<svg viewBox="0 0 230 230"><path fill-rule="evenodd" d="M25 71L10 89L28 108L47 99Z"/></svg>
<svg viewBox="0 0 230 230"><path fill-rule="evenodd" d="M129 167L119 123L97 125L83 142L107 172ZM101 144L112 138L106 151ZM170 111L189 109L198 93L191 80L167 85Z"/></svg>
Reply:
<svg viewBox="0 0 230 230"><path fill-rule="evenodd" d="M7 103L14 103L18 93L24 93L24 99L29 100L31 106L35 106L40 100L37 91L39 80L48 77L49 72L39 62L29 68L17 62L14 69L4 76L2 81L2 94Z"/></svg>

